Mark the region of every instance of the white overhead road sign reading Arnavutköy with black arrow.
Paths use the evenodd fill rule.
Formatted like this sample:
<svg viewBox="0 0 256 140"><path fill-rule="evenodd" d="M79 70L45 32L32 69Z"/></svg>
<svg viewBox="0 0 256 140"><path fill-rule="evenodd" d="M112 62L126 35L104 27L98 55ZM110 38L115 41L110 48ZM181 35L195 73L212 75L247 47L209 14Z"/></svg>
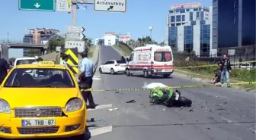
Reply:
<svg viewBox="0 0 256 140"><path fill-rule="evenodd" d="M126 12L126 0L94 0L94 11Z"/></svg>

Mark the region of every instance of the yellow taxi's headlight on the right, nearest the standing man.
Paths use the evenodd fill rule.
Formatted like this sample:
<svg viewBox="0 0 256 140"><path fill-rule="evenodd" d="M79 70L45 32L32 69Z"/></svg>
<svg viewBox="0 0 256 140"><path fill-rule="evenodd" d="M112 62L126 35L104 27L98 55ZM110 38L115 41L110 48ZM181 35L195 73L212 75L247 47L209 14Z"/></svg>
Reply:
<svg viewBox="0 0 256 140"><path fill-rule="evenodd" d="M80 98L74 98L66 104L66 112L73 112L82 108L83 102Z"/></svg>

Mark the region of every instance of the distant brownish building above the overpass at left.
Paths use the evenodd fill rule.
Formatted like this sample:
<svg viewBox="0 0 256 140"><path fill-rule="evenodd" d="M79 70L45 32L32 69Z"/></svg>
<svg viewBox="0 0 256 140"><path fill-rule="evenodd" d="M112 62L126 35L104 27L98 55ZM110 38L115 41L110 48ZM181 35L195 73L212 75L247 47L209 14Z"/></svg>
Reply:
<svg viewBox="0 0 256 140"><path fill-rule="evenodd" d="M48 28L36 28L36 29L27 29L29 31L28 34L24 35L23 42L25 43L38 43L38 44L46 44L50 37L59 33L59 30L48 29ZM30 49L24 48L23 55L27 56Z"/></svg>

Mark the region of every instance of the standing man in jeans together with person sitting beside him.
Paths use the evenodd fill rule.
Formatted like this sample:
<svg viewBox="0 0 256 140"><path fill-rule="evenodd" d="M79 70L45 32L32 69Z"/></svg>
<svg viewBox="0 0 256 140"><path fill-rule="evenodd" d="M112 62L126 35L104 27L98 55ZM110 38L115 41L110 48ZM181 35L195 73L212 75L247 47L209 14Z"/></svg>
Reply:
<svg viewBox="0 0 256 140"><path fill-rule="evenodd" d="M219 68L214 71L215 77L212 79L211 83L221 82L224 83L224 76L226 77L227 86L230 87L229 73L232 71L231 63L227 58L227 55L223 55L222 61L218 63Z"/></svg>

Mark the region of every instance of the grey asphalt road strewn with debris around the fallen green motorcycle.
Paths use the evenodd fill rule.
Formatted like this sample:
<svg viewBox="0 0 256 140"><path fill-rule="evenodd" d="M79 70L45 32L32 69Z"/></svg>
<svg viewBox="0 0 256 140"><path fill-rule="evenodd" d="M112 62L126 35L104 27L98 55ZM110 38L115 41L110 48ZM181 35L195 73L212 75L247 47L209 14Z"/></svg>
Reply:
<svg viewBox="0 0 256 140"><path fill-rule="evenodd" d="M100 62L120 59L108 46L101 47ZM205 84L174 72L169 79L95 73L95 89L141 88L144 82L168 86ZM149 105L149 92L93 92L97 104L112 104L118 110L92 110L90 129L113 126L112 132L95 135L91 140L255 140L256 95L238 89L210 87L181 89L193 101L188 108ZM135 103L126 101L135 100Z"/></svg>

